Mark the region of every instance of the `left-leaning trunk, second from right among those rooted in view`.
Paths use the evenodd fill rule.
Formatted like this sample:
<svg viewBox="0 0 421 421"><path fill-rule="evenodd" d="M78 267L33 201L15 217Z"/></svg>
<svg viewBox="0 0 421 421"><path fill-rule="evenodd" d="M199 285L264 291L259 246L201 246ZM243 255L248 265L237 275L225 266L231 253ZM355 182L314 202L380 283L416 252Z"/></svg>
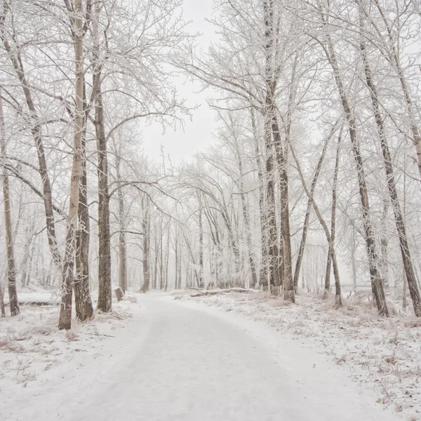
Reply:
<svg viewBox="0 0 421 421"><path fill-rule="evenodd" d="M356 163L356 173L358 176L359 183L359 194L361 198L361 208L362 208L362 217L363 217L363 226L364 234L366 240L366 248L368 255L368 265L370 269L370 280L371 288L373 290L373 297L375 298L375 303L377 310L382 316L389 316L389 310L387 309L385 289L383 288L382 279L379 271L379 258L377 253L377 246L375 243L375 235L373 231L373 225L370 219L370 203L368 200L368 189L366 183L366 175L363 168L363 159L361 156L361 151L359 148L359 143L357 140L356 133L356 121L352 109L349 105L347 94L345 93L345 86L342 82L342 75L340 74L340 68L338 65L338 60L336 60L335 50L333 48L333 43L330 39L330 36L327 35L328 46L325 49L326 57L330 63L330 66L333 69L333 75L335 77L335 83L338 88L338 93L340 95L340 102L342 109L345 112L345 118L347 120L349 138L352 143L352 152L354 153L354 160ZM324 46L323 46L324 47Z"/></svg>

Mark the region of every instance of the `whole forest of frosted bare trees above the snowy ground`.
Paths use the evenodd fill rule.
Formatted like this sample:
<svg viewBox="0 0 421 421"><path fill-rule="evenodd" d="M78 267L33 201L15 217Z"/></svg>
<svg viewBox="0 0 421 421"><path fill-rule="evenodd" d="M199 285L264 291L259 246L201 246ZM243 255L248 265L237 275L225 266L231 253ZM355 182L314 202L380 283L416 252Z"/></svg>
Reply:
<svg viewBox="0 0 421 421"><path fill-rule="evenodd" d="M56 290L69 329L118 286L337 307L368 287L421 316L419 1L216 0L209 20L206 49L181 0L1 1L0 302ZM150 156L145 126L194 119L182 81L213 145Z"/></svg>

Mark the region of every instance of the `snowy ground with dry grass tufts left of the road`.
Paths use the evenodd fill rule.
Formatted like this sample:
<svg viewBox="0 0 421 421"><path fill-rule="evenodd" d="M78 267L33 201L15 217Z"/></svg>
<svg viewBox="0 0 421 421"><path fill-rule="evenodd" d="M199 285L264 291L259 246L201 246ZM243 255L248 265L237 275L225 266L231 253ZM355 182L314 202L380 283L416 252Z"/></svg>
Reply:
<svg viewBox="0 0 421 421"><path fill-rule="evenodd" d="M0 394L16 385L26 387L44 371L72 361L75 354L95 359L104 347L102 341L131 318L133 306L138 307L135 300L113 303L112 313L96 314L86 323L74 320L68 331L57 328L57 306L25 305L18 316L0 319Z"/></svg>

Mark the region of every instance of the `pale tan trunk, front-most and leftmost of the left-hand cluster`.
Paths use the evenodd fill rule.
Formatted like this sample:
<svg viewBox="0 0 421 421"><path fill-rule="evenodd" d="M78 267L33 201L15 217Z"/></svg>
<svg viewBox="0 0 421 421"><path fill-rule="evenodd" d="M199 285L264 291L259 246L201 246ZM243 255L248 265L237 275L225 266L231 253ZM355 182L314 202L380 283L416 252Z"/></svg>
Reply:
<svg viewBox="0 0 421 421"><path fill-rule="evenodd" d="M75 257L77 216L79 208L79 184L81 179L83 134L83 27L82 0L74 0L74 64L75 64L75 109L74 109L74 145L72 176L70 178L69 214L67 220L65 258L62 267L62 300L60 306L59 329L72 326L72 280Z"/></svg>

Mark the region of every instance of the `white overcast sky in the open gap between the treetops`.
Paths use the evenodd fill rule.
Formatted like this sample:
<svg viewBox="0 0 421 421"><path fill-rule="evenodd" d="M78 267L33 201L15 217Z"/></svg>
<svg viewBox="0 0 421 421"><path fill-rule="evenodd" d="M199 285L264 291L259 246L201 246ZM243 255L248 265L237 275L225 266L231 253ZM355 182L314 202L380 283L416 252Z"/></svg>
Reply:
<svg viewBox="0 0 421 421"><path fill-rule="evenodd" d="M185 0L183 6L183 16L186 21L191 21L189 32L199 32L199 44L206 48L213 38L213 27L206 18L212 15L212 0ZM169 154L171 160L181 161L192 156L195 152L203 150L213 141L212 132L215 129L215 114L206 103L206 96L209 93L200 92L200 83L183 83L185 78L180 78L177 84L178 91L182 98L186 98L189 105L199 105L198 109L192 111L192 121L185 119L184 131L178 128L173 131L166 129L163 134L159 123L152 123L143 128L142 138L145 154L152 160L156 160L161 155L161 145L165 154Z"/></svg>

